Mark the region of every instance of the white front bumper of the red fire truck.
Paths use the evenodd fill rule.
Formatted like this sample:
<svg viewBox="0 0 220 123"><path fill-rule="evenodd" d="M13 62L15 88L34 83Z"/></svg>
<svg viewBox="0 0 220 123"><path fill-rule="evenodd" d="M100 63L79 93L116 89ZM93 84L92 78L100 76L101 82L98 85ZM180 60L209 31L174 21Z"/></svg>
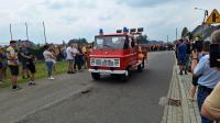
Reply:
<svg viewBox="0 0 220 123"><path fill-rule="evenodd" d="M103 69L89 69L89 72L99 72L99 74L116 74L116 75L123 75L127 74L127 70L103 70Z"/></svg>

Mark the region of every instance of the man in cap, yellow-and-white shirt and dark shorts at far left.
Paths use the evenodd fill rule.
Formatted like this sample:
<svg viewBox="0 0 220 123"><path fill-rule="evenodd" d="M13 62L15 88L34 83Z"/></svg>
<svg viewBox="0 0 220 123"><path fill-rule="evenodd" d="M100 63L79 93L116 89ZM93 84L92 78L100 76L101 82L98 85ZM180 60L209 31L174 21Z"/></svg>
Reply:
<svg viewBox="0 0 220 123"><path fill-rule="evenodd" d="M19 90L21 88L18 86L19 58L16 47L16 41L10 41L10 46L7 48L7 58L9 68L11 70L12 89Z"/></svg>

